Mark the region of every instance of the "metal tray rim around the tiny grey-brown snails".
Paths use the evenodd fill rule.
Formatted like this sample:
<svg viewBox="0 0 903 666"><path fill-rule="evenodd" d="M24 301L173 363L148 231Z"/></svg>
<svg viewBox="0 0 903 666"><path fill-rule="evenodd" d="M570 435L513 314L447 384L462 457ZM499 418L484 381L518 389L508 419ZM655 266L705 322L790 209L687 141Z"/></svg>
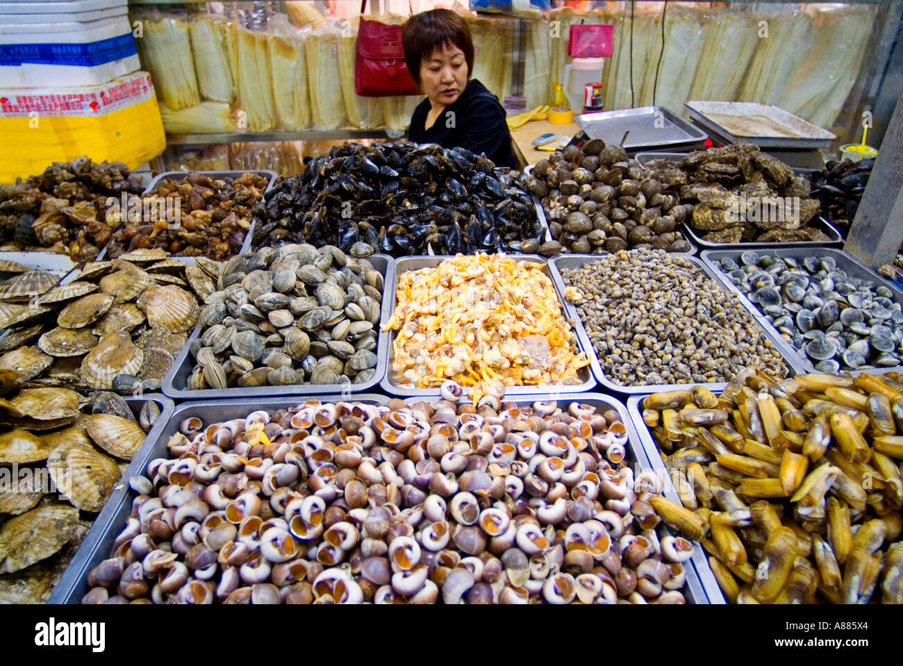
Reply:
<svg viewBox="0 0 903 666"><path fill-rule="evenodd" d="M724 284L721 280L718 279L717 273L712 271L712 267L709 264L705 264L702 259L695 256L686 256L684 254L677 254L676 256L683 256L687 261L696 265L703 273L708 275L712 280L724 287L727 291L732 291L734 293L740 294L740 290L737 289L733 284ZM599 261L600 257L596 254L559 254L554 258L549 260L550 267L552 269L552 279L555 282L558 290L563 294L564 293L564 279L562 277L562 271L566 268L580 268L585 264L591 264L592 262ZM730 281L729 281L730 282ZM742 294L740 294L740 303L749 310L749 301L746 301L742 298ZM744 302L745 301L745 302ZM580 319L580 315L577 313L577 308L574 307L573 303L569 303L564 301L564 310L567 314L568 320L571 322L571 325L577 331L577 338L580 338L581 347L587 351L587 355L590 357L590 367L592 369L592 375L595 376L596 381L599 382L602 386L607 388L609 391L614 393L622 393L627 395L639 395L642 393L656 393L658 391L675 391L678 389L684 389L688 386L693 386L695 384L701 384L699 382L687 382L684 384L638 384L635 386L622 386L621 384L615 384L612 382L602 371L602 367L599 362L599 356L596 354L595 348L592 346L592 342L590 340L589 334L586 332L586 328L583 326L583 322ZM753 312L749 312L750 316L755 320L759 325L761 321L758 317L755 316ZM784 339L781 338L780 334L774 328L770 330L768 327L762 327L762 331L765 334L765 338L771 341L771 343L775 346L778 355L784 359L784 362L787 364L788 375L797 375L799 373L805 372L805 368L802 364L798 362L798 356L794 353L793 347ZM710 382L706 384L701 384L706 386L711 391L721 391L727 382Z"/></svg>

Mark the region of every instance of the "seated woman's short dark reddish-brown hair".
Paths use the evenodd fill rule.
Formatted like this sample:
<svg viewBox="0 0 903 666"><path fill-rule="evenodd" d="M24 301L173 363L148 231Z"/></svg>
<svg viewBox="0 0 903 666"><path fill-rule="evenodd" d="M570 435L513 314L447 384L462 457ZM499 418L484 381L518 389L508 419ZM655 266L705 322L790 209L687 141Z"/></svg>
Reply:
<svg viewBox="0 0 903 666"><path fill-rule="evenodd" d="M401 41L405 48L405 62L414 83L420 85L420 63L443 46L457 46L464 51L467 75L473 72L473 41L470 28L460 14L451 9L431 9L414 14L401 29Z"/></svg>

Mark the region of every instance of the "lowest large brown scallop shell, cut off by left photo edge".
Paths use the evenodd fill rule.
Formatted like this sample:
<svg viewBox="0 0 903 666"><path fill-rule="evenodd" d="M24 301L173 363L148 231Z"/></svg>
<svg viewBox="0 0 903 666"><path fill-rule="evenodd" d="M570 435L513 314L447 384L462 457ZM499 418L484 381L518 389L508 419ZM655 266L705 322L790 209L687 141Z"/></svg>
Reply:
<svg viewBox="0 0 903 666"><path fill-rule="evenodd" d="M79 525L79 510L65 504L39 506L0 527L0 573L45 560L66 545Z"/></svg>

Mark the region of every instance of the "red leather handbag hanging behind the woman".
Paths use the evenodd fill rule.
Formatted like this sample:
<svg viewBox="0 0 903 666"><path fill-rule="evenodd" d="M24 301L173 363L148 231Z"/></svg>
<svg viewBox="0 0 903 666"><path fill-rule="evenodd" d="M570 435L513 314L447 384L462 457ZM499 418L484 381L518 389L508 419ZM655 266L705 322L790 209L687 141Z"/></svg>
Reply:
<svg viewBox="0 0 903 666"><path fill-rule="evenodd" d="M364 13L367 0L360 3ZM360 19L354 60L354 91L361 97L416 95L401 43L401 26Z"/></svg>

